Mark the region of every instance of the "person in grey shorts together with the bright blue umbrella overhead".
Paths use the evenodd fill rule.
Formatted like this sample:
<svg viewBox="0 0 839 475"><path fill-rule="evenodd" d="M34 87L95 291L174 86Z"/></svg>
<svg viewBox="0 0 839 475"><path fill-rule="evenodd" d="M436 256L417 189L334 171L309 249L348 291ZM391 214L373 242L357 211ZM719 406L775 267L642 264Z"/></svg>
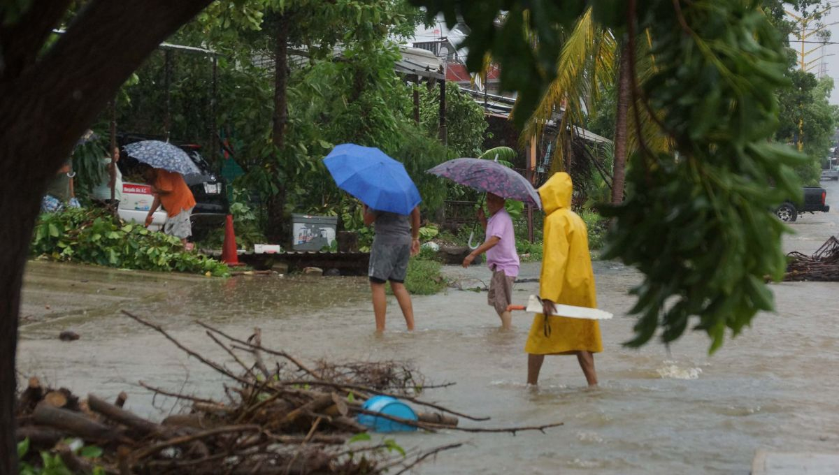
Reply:
<svg viewBox="0 0 839 475"><path fill-rule="evenodd" d="M410 257L420 252L420 191L402 163L378 148L345 143L335 147L324 163L338 188L361 200L364 224L373 225L367 276L376 331L384 331L388 306L384 285L388 281L405 325L413 330L414 308L404 281Z"/></svg>

